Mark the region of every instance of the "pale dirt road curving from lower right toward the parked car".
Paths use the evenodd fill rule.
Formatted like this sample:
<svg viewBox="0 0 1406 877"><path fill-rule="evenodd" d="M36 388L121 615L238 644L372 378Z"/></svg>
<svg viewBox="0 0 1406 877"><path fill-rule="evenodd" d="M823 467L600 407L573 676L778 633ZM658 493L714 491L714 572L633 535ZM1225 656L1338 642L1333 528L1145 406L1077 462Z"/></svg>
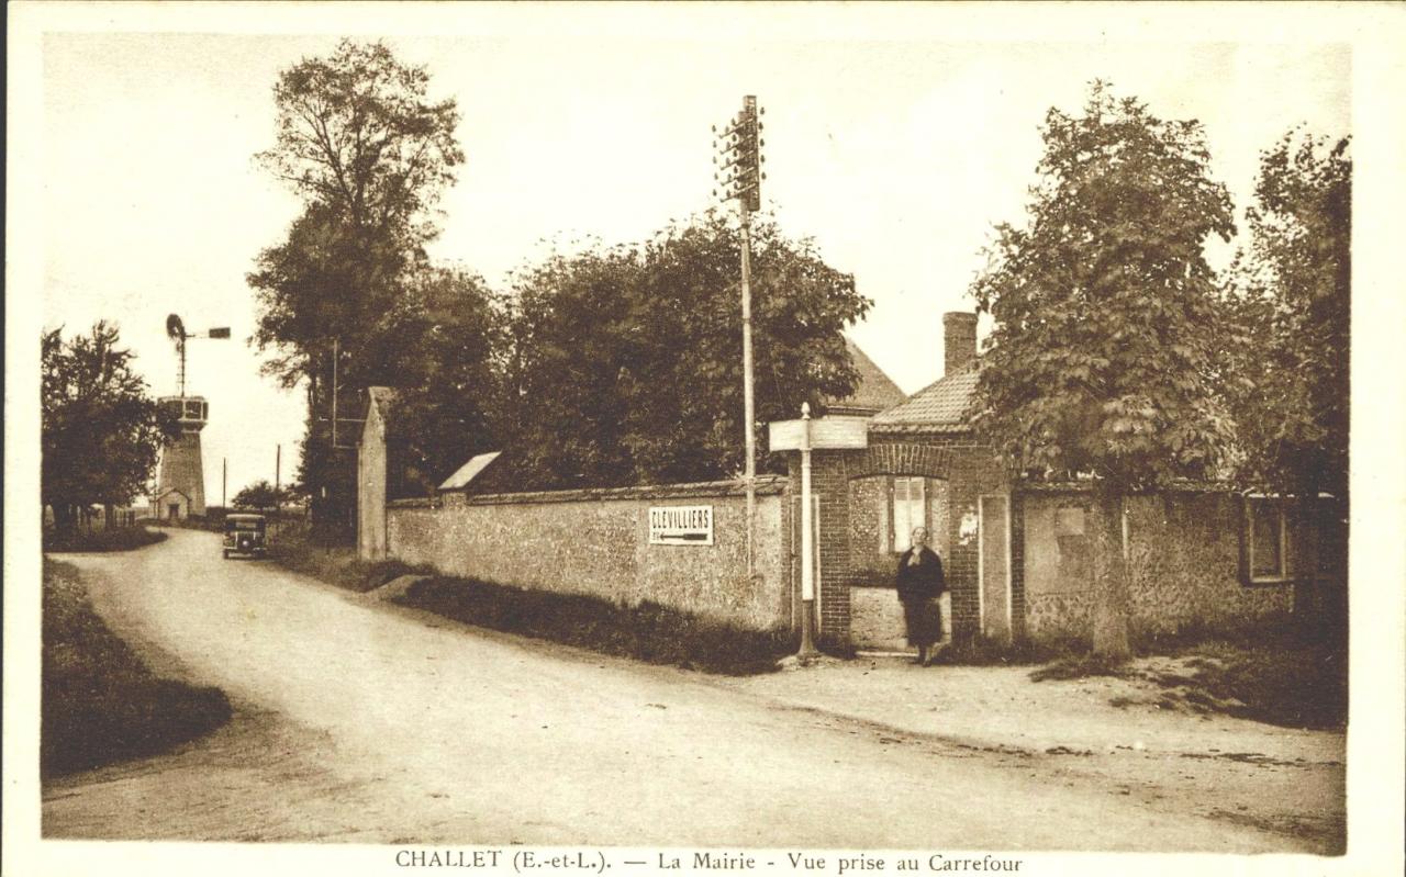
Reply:
<svg viewBox="0 0 1406 877"><path fill-rule="evenodd" d="M1313 849L226 562L214 534L66 559L118 634L159 669L222 687L238 715L169 756L49 784L51 838Z"/></svg>

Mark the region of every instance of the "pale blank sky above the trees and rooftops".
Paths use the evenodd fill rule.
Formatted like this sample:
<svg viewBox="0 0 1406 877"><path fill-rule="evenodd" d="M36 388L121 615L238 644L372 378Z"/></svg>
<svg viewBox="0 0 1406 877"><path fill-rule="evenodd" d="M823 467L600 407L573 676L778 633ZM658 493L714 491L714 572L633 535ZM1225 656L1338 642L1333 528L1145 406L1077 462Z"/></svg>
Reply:
<svg viewBox="0 0 1406 877"><path fill-rule="evenodd" d="M1201 121L1237 211L1258 153L1291 126L1351 132L1353 58L1339 42L845 38L765 22L720 41L710 28L661 38L502 21L387 37L461 112L467 162L440 202L437 260L506 288L551 246L641 240L709 208L709 126L755 94L765 208L873 299L852 336L905 392L941 377L941 315L974 306L967 288L993 225L1024 215L1042 118L1077 111L1091 80ZM304 396L260 375L245 274L299 202L253 155L273 142L278 72L328 53L339 34L160 30L44 37L42 322L117 322L159 395L176 391L167 313L197 332L232 327L232 340L193 340L188 353L188 392L211 406L215 503L224 461L231 498L273 481L278 446L283 481L295 471Z"/></svg>

